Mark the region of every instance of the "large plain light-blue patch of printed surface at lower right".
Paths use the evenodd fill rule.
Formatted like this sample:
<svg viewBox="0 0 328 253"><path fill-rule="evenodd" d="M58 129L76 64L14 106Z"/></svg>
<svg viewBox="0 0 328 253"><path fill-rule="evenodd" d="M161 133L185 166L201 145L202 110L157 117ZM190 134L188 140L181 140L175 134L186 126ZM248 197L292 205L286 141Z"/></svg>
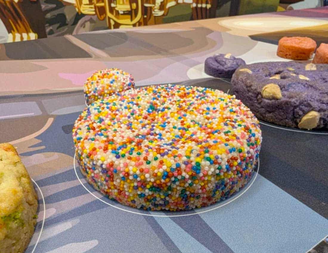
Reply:
<svg viewBox="0 0 328 253"><path fill-rule="evenodd" d="M235 253L303 253L328 234L327 219L260 175L241 198L200 217Z"/></svg>

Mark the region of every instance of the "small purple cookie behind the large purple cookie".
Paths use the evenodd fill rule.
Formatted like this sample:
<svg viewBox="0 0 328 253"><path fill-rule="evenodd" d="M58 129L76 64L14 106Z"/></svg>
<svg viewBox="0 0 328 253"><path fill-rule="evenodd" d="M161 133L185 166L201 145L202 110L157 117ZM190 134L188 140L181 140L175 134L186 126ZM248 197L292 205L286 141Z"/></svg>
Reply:
<svg viewBox="0 0 328 253"><path fill-rule="evenodd" d="M221 78L231 78L235 70L245 65L243 59L236 58L231 54L216 54L205 60L205 73Z"/></svg>

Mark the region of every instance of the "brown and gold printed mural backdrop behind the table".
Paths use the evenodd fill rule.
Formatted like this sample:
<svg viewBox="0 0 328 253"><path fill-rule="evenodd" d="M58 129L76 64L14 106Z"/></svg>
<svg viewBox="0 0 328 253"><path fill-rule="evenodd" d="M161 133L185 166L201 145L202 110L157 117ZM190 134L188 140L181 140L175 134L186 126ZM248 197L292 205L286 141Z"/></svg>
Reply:
<svg viewBox="0 0 328 253"><path fill-rule="evenodd" d="M0 43L277 10L279 0L0 0Z"/></svg>

